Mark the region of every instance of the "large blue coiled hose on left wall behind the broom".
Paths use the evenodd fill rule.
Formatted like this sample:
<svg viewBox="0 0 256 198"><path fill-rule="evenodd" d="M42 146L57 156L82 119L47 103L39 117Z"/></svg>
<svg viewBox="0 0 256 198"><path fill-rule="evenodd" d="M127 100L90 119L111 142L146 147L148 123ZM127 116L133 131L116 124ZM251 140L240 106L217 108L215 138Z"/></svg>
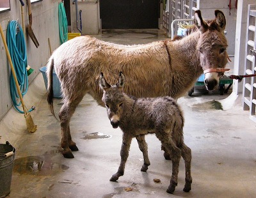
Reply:
<svg viewBox="0 0 256 198"><path fill-rule="evenodd" d="M28 73L26 70L26 67L28 65L27 50L22 27L16 20L12 20L9 22L6 37L8 50L12 58L13 67L20 86L20 92L23 97L28 91ZM24 111L18 108L21 105L21 102L17 102L19 99L19 93L17 91L12 72L10 74L10 93L13 106L18 112L24 114ZM31 110L33 109L29 109L28 112L31 112Z"/></svg>

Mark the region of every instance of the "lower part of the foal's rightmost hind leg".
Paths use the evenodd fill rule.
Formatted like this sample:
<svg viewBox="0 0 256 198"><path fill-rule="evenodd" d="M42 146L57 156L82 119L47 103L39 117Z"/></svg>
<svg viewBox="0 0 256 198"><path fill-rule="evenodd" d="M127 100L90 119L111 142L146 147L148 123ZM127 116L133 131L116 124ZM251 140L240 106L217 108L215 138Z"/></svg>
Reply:
<svg viewBox="0 0 256 198"><path fill-rule="evenodd" d="M185 187L183 188L184 192L189 192L191 190L191 183L192 183L192 177L191 177L191 149L186 146L186 144L182 144L180 147L181 149L181 156L184 158L185 161L185 169L186 169L186 178L185 178Z"/></svg>

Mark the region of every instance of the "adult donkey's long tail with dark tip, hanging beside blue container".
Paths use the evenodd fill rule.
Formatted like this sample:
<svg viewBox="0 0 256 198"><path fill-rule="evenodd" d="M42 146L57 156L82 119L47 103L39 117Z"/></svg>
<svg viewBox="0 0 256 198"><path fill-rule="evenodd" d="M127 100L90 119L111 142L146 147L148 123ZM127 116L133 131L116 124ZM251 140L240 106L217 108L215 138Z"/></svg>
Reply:
<svg viewBox="0 0 256 198"><path fill-rule="evenodd" d="M54 59L51 57L49 59L48 64L47 64L47 79L48 79L48 86L47 86L47 102L49 105L49 109L51 110L52 115L54 118L56 118L55 113L54 113L54 108L53 108L53 78L52 78L52 72L53 72L53 67L54 67ZM56 118L58 120L58 118Z"/></svg>

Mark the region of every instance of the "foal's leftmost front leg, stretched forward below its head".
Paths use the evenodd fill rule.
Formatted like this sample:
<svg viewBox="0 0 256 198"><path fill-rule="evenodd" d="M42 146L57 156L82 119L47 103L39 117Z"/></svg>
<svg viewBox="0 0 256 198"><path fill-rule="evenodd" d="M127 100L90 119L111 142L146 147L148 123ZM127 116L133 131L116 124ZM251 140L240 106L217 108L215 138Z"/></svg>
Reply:
<svg viewBox="0 0 256 198"><path fill-rule="evenodd" d="M121 162L118 168L118 171L113 174L113 176L109 179L109 181L116 181L120 176L124 175L124 168L125 168L125 163L127 161L128 155L129 155L129 149L131 146L132 142L132 135L123 134L123 143L120 151L120 156L121 156Z"/></svg>

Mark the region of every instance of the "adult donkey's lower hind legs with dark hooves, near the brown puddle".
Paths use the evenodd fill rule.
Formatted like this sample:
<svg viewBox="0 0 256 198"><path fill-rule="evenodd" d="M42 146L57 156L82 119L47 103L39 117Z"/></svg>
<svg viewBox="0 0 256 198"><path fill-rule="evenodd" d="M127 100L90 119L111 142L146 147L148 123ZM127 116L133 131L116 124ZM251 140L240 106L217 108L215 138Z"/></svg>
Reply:
<svg viewBox="0 0 256 198"><path fill-rule="evenodd" d="M78 150L76 143L72 141L69 123L70 118L74 114L77 105L79 104L79 102L81 102L82 99L83 96L79 96L76 98L76 100L73 101L69 101L65 98L59 112L61 126L61 147L63 148L62 153L65 158L74 158L72 150Z"/></svg>

